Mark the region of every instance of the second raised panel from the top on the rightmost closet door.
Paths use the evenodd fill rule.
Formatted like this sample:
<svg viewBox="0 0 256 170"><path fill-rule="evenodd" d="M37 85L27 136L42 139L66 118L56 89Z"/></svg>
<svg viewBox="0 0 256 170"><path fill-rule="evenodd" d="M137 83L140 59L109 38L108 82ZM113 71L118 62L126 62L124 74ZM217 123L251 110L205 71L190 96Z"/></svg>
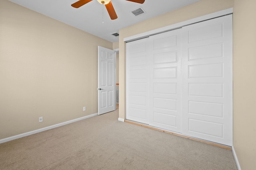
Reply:
<svg viewBox="0 0 256 170"><path fill-rule="evenodd" d="M222 57L222 44L206 45L188 49L188 59L209 59Z"/></svg>

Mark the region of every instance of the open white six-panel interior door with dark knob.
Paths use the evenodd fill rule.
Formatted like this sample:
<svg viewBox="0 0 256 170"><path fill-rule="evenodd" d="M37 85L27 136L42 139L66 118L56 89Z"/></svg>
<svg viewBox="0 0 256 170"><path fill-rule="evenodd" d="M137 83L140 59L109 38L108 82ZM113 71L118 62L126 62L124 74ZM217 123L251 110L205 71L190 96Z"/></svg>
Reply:
<svg viewBox="0 0 256 170"><path fill-rule="evenodd" d="M98 46L98 114L116 109L115 51Z"/></svg>

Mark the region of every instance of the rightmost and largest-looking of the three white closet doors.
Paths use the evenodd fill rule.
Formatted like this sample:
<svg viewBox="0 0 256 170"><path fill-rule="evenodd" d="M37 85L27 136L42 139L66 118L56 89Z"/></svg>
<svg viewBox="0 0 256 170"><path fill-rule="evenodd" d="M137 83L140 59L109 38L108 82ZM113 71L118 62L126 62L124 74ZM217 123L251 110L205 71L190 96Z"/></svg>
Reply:
<svg viewBox="0 0 256 170"><path fill-rule="evenodd" d="M182 133L232 146L232 15L182 27Z"/></svg>

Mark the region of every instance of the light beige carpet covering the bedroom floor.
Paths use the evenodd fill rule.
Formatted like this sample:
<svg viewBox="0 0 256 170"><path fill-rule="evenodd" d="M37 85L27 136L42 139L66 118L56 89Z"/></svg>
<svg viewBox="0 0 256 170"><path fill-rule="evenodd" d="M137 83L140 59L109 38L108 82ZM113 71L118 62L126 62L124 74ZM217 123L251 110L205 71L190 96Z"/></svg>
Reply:
<svg viewBox="0 0 256 170"><path fill-rule="evenodd" d="M117 120L118 110L0 144L0 170L237 170L231 150Z"/></svg>

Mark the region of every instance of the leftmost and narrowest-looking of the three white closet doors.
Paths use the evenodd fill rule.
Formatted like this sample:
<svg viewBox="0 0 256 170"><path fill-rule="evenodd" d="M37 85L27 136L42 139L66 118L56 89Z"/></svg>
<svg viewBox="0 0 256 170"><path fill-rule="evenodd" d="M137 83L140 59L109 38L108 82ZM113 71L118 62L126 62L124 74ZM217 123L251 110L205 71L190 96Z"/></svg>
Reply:
<svg viewBox="0 0 256 170"><path fill-rule="evenodd" d="M126 43L126 119L148 124L148 38Z"/></svg>

